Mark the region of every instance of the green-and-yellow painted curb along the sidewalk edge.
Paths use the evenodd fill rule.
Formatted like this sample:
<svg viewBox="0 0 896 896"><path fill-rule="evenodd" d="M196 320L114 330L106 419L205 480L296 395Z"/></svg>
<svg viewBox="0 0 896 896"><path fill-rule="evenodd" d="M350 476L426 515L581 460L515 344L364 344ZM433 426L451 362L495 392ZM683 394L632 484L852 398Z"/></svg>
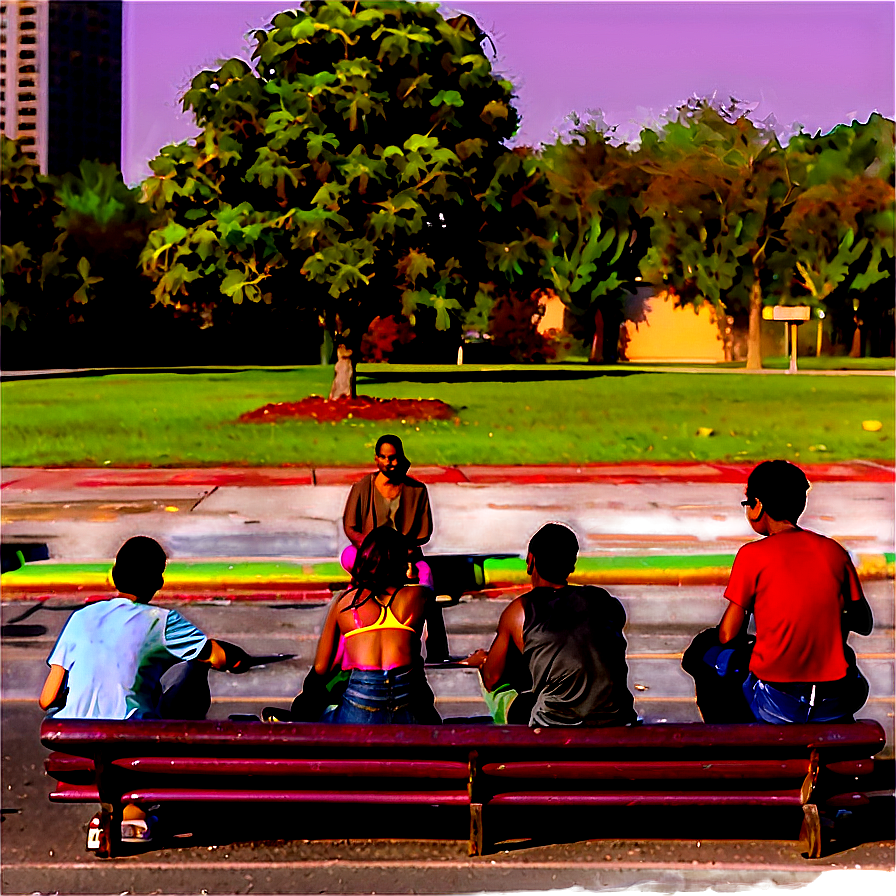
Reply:
<svg viewBox="0 0 896 896"><path fill-rule="evenodd" d="M570 576L588 585L725 585L733 553L580 556ZM894 553L852 553L863 581L896 576ZM107 560L45 560L10 570L0 579L2 599L34 599L54 592L99 594L114 591ZM486 594L526 585L521 558L488 558L482 563L480 587ZM331 588L348 584L348 574L335 560L172 560L165 571L162 600L215 597L235 600L320 600ZM257 595L257 596L256 596ZM197 599L194 598L194 599Z"/></svg>

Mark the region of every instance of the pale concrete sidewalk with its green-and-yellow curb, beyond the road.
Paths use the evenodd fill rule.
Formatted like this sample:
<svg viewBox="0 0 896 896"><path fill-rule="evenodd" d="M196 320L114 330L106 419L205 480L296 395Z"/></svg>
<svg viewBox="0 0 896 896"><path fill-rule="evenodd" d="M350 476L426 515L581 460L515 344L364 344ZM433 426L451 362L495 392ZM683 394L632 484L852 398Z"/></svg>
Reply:
<svg viewBox="0 0 896 896"><path fill-rule="evenodd" d="M599 585L724 585L751 533L740 506L753 464L419 466L439 554L522 550L548 519L571 525L581 555L575 581ZM894 467L850 461L806 465L814 484L803 524L840 541L865 580L892 578ZM3 598L102 594L118 546L158 538L171 561L172 599L321 599L348 580L336 562L341 515L363 468L5 469ZM37 550L25 550L30 543ZM10 555L13 559L10 563ZM487 559L483 596L527 581L518 559Z"/></svg>

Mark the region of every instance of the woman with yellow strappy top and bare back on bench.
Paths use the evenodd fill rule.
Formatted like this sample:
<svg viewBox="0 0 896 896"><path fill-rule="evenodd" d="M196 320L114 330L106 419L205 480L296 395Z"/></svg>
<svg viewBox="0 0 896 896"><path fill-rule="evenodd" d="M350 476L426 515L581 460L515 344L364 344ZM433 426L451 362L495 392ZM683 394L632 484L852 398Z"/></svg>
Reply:
<svg viewBox="0 0 896 896"><path fill-rule="evenodd" d="M395 529L379 526L361 543L352 585L330 602L314 657L318 679L325 679L337 665L350 670L341 702L322 721L366 725L436 721L418 711L431 706L420 639L432 592L408 584L407 568L407 541Z"/></svg>

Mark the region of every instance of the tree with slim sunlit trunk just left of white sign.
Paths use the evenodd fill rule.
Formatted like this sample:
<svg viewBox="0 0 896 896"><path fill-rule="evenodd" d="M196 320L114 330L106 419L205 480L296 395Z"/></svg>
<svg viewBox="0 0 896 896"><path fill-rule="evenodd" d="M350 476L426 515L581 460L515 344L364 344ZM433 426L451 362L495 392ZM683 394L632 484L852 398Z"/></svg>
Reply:
<svg viewBox="0 0 896 896"><path fill-rule="evenodd" d="M770 256L799 188L771 127L736 100L693 99L640 135L653 221L645 276L680 304L709 301L721 319L747 313L747 368L762 366L763 290Z"/></svg>

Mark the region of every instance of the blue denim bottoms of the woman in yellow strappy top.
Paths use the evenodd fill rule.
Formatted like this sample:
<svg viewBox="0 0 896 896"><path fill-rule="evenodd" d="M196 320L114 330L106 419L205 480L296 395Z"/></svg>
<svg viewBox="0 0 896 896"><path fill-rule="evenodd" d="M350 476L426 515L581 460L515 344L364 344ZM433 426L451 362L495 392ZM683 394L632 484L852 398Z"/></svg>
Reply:
<svg viewBox="0 0 896 896"><path fill-rule="evenodd" d="M411 705L420 675L418 669L352 669L342 703L324 722L343 725L413 725Z"/></svg>

